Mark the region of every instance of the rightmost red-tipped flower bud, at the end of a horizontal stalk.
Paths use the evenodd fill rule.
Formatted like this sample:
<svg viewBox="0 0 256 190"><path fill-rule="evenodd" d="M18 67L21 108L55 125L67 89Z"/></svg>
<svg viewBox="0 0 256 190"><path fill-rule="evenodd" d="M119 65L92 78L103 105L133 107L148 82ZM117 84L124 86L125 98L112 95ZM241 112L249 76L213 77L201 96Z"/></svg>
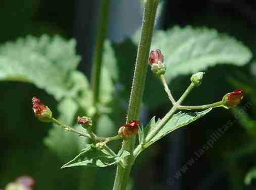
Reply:
<svg viewBox="0 0 256 190"><path fill-rule="evenodd" d="M243 89L236 89L231 93L226 94L222 101L223 105L227 107L235 107L243 99Z"/></svg>

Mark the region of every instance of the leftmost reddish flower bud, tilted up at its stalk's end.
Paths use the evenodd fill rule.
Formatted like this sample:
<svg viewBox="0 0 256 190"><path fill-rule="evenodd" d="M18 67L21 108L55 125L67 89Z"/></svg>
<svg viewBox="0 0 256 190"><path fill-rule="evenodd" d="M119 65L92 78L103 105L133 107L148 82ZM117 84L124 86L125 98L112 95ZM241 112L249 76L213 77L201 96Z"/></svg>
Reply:
<svg viewBox="0 0 256 190"><path fill-rule="evenodd" d="M43 122L51 122L52 112L48 106L45 106L38 97L32 98L33 111L35 117Z"/></svg>

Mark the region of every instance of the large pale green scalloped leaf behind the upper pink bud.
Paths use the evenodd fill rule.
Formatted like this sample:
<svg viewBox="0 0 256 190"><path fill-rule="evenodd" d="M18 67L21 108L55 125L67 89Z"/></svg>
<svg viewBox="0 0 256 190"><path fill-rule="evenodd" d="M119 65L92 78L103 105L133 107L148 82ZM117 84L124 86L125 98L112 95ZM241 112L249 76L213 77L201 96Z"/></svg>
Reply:
<svg viewBox="0 0 256 190"><path fill-rule="evenodd" d="M138 34L134 40L138 42ZM164 54L168 82L178 76L203 71L216 64L243 66L252 58L248 47L215 29L174 27L156 30L151 49Z"/></svg>

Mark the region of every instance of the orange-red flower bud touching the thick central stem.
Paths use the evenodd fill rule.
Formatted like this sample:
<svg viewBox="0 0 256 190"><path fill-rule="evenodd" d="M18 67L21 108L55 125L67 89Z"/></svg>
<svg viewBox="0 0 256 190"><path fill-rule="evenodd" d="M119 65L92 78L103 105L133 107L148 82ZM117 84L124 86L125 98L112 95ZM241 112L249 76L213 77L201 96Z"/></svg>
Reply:
<svg viewBox="0 0 256 190"><path fill-rule="evenodd" d="M139 125L140 125L140 121L130 120L128 124L125 124L124 126L120 127L118 133L124 137L132 136L138 133Z"/></svg>

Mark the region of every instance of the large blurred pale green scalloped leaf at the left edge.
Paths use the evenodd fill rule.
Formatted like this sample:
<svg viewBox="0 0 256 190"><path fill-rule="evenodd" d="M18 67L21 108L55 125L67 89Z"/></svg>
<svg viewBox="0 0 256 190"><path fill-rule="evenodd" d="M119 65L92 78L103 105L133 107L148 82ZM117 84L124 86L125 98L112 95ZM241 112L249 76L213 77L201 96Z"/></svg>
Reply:
<svg viewBox="0 0 256 190"><path fill-rule="evenodd" d="M60 100L69 93L69 77L80 56L75 40L27 36L0 46L0 80L35 84Z"/></svg>

